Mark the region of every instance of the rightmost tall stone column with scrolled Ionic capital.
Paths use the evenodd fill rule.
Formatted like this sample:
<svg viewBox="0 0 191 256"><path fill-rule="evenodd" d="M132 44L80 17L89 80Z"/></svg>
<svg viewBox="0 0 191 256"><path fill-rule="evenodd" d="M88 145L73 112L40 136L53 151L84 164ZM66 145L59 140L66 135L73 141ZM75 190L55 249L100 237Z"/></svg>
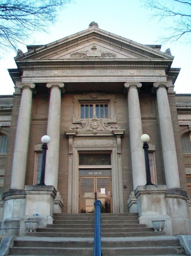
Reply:
<svg viewBox="0 0 191 256"><path fill-rule="evenodd" d="M179 170L177 163L177 154L175 148L172 120L170 115L170 106L166 88L170 87L168 82L155 82L159 125L161 132L161 143L163 151L163 161L165 168L165 178L167 189L180 188Z"/></svg>

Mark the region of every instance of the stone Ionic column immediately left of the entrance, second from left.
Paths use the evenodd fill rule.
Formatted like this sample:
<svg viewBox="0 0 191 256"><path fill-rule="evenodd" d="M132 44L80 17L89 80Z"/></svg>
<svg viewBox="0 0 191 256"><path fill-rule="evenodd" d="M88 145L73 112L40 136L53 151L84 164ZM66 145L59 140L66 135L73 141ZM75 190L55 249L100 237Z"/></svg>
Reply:
<svg viewBox="0 0 191 256"><path fill-rule="evenodd" d="M62 82L49 82L48 88L51 88L49 115L47 125L47 135L51 141L48 144L46 155L45 184L53 185L58 188L58 170L60 153L60 113L61 113L61 89Z"/></svg>

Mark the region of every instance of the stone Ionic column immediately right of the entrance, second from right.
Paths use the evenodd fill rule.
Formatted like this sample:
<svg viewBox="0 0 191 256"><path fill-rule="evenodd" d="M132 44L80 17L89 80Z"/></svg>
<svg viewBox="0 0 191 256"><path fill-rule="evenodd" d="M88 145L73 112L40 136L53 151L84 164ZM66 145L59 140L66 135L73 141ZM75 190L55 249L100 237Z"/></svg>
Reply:
<svg viewBox="0 0 191 256"><path fill-rule="evenodd" d="M142 135L142 121L140 115L138 88L140 88L142 84L126 82L124 86L128 89L131 165L133 173L133 189L136 189L137 186L145 185L147 183L144 150L142 149L143 145L140 140Z"/></svg>

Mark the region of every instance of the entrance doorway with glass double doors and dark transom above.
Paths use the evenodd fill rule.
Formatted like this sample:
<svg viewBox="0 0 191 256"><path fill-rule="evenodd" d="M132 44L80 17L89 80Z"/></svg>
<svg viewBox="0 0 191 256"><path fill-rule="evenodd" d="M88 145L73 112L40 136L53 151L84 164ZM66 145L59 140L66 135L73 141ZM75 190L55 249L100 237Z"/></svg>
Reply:
<svg viewBox="0 0 191 256"><path fill-rule="evenodd" d="M95 193L101 212L112 212L111 152L79 152L79 213L94 212Z"/></svg>

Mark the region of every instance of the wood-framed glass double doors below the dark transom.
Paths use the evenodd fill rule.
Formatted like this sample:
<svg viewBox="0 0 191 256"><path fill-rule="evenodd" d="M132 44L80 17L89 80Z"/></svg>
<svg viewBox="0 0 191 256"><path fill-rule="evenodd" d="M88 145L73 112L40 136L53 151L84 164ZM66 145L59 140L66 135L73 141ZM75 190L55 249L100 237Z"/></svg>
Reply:
<svg viewBox="0 0 191 256"><path fill-rule="evenodd" d="M93 172L89 172L93 175ZM97 172L94 172L97 174ZM98 172L99 173L99 172ZM95 192L97 199L102 202L101 212L112 212L111 177L80 177L79 212L94 212Z"/></svg>

